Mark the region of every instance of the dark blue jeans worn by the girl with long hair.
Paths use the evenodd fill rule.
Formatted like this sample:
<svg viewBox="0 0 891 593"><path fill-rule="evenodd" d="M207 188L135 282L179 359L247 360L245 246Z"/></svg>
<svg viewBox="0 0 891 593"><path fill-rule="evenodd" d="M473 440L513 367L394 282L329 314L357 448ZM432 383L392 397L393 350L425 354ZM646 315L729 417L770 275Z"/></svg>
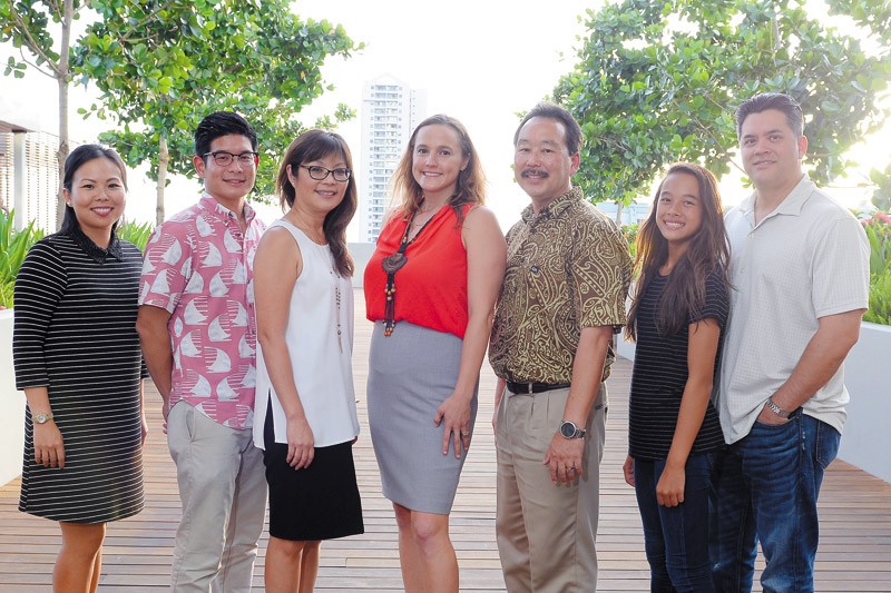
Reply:
<svg viewBox="0 0 891 593"><path fill-rule="evenodd" d="M708 498L714 454L691 455L685 465L684 502L660 506L656 485L665 459L635 459L637 506L644 523L649 562L650 591L658 593L712 593L708 560Z"/></svg>

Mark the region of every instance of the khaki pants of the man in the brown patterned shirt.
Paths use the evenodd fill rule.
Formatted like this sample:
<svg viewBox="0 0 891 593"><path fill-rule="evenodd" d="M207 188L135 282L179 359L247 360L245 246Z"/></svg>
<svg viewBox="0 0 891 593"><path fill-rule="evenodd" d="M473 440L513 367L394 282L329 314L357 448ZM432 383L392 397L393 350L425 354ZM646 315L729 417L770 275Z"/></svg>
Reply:
<svg viewBox="0 0 891 593"><path fill-rule="evenodd" d="M606 427L606 385L588 417L582 477L555 485L542 464L562 421L569 389L506 391L498 409L496 534L509 593L575 593L597 589L597 520Z"/></svg>

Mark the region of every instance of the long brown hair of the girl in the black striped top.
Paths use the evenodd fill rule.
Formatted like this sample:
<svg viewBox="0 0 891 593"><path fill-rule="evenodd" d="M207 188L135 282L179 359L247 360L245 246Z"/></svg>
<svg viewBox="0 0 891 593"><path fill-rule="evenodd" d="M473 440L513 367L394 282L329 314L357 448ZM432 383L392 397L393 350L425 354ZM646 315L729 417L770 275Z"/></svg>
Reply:
<svg viewBox="0 0 891 593"><path fill-rule="evenodd" d="M662 294L656 309L656 328L663 336L672 336L681 332L696 317L705 305L705 283L709 275L718 274L721 280L730 288L727 264L730 249L727 233L724 228L724 213L721 194L712 171L693 162L676 162L665 174L656 189L649 216L640 225L637 233L637 259L635 269L639 273L634 294L631 310L625 335L637 338L637 315L640 299L646 294L659 268L668 260L668 241L656 226L656 206L662 195L665 179L675 172L684 172L696 178L699 186L699 204L702 205L702 225L689 238L689 247L675 264L665 291Z"/></svg>

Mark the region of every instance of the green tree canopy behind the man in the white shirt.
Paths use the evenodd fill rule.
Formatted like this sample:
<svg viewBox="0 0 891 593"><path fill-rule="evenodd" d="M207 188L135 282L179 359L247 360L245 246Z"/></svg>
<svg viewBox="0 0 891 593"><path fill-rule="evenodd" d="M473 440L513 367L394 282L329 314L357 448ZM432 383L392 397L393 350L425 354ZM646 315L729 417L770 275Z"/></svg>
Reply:
<svg viewBox="0 0 891 593"><path fill-rule="evenodd" d="M554 92L582 127L576 179L595 201L628 204L676 160L721 176L736 147L736 106L776 91L802 106L812 177L832 180L848 148L888 116L879 99L891 79L891 9L882 3L829 2L861 27L858 37L792 0L620 0L588 10L579 62Z"/></svg>

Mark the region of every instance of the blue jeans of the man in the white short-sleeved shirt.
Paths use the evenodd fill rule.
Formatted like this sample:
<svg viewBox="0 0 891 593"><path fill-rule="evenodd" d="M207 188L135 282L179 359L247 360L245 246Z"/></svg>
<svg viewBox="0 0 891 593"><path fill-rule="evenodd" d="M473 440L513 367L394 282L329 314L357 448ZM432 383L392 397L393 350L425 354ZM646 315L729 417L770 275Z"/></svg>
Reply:
<svg viewBox="0 0 891 593"><path fill-rule="evenodd" d="M716 465L712 515L715 589L752 591L757 542L764 593L810 593L820 540L816 497L841 435L801 411L771 426L756 422Z"/></svg>

